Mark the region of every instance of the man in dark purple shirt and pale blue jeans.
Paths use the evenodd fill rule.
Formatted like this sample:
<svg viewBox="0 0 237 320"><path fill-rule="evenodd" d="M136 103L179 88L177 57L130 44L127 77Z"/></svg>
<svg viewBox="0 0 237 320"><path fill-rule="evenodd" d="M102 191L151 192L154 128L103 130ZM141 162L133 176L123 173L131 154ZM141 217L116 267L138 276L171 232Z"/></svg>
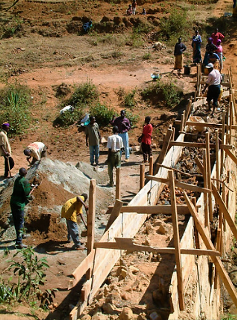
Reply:
<svg viewBox="0 0 237 320"><path fill-rule="evenodd" d="M125 162L128 162L128 158L129 158L128 130L130 130L131 126L130 126L129 120L127 118L125 118L125 111L121 110L120 117L117 117L115 120L114 120L114 116L113 116L111 123L113 126L118 127L119 135L121 136L121 138L123 140L123 146L124 146L124 150L125 150ZM122 153L122 151L121 151L121 153Z"/></svg>

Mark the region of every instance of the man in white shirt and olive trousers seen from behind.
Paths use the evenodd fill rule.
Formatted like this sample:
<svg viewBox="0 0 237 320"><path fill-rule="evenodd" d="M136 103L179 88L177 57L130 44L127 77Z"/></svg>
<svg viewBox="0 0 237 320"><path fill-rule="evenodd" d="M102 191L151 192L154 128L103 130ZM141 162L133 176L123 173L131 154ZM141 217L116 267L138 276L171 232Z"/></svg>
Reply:
<svg viewBox="0 0 237 320"><path fill-rule="evenodd" d="M108 174L110 177L110 187L114 187L113 180L113 168L121 167L121 153L120 150L123 148L123 140L118 135L119 129L117 126L113 127L113 135L110 135L107 142L108 148Z"/></svg>

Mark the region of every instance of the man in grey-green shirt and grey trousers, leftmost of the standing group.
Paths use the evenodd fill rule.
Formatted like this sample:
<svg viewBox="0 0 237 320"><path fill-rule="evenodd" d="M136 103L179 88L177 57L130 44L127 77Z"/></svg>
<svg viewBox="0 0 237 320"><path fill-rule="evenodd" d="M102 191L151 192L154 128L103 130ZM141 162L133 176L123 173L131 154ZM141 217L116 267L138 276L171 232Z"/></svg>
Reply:
<svg viewBox="0 0 237 320"><path fill-rule="evenodd" d="M89 139L89 149L90 149L90 164L91 166L97 166L99 163L99 143L100 143L100 133L98 123L95 122L95 117L90 117L90 123L85 128L86 133L86 145L88 147Z"/></svg>

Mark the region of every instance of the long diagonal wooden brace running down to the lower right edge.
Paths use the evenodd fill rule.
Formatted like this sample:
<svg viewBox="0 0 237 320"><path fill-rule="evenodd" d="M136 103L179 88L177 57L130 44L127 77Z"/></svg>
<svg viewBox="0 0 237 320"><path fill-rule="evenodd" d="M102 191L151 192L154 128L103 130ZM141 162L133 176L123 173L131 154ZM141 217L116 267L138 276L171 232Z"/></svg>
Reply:
<svg viewBox="0 0 237 320"><path fill-rule="evenodd" d="M185 196L185 200L186 200L186 203L190 209L190 213L194 219L194 222L195 222L195 225L197 227L197 230L200 234L200 236L202 237L202 240L204 242L204 244L206 245L206 248L209 249L209 250L215 250L215 247L212 243L212 241L210 240L210 238L208 237L207 233L206 233L206 230L204 229L204 226L202 225L202 222L198 216L198 213L197 211L195 210L194 208L194 205L193 203L191 202L191 200L189 199L188 195L186 192L183 193L184 196ZM221 259L220 257L212 257L212 261L213 263L215 264L216 268L217 268L217 271L219 272L219 275L234 303L234 305L237 307L237 292L236 292L236 289L235 287L233 286L229 276L228 276L228 273L226 272L222 262L221 262Z"/></svg>

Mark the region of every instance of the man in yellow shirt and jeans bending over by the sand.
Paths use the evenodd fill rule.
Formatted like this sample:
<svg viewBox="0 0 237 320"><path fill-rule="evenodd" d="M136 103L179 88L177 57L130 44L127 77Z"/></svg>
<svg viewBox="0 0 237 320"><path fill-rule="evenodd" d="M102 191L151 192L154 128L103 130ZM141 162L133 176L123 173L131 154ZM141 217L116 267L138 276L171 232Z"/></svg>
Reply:
<svg viewBox="0 0 237 320"><path fill-rule="evenodd" d="M88 205L85 203L88 196L86 193L83 193L81 196L74 197L69 199L62 207L61 216L62 218L66 218L67 221L67 240L68 242L71 239L74 242L73 248L76 250L83 250L85 247L82 245L79 239L79 230L78 224L76 220L76 216L80 215L81 219L83 218L82 206L84 205L86 211L88 210Z"/></svg>

